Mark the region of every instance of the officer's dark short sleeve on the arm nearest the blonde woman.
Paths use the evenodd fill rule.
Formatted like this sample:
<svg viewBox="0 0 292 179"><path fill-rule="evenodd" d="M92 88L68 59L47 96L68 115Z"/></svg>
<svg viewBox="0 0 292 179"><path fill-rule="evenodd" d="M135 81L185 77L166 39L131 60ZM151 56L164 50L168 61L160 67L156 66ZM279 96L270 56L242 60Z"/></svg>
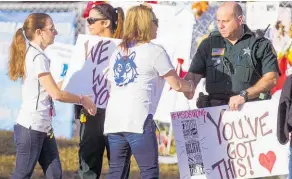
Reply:
<svg viewBox="0 0 292 179"><path fill-rule="evenodd" d="M206 38L201 42L196 54L194 55L189 72L206 75L206 59L208 58L208 39Z"/></svg>

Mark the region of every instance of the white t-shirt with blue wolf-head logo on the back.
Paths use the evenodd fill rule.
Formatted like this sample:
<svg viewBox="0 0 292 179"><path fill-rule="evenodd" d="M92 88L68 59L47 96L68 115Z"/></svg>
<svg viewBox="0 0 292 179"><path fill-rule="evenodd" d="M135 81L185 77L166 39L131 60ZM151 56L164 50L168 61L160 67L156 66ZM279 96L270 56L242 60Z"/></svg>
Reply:
<svg viewBox="0 0 292 179"><path fill-rule="evenodd" d="M155 114L165 80L174 69L166 51L153 43L129 48L128 58L120 48L110 59L111 84L104 133L143 133L148 114Z"/></svg>

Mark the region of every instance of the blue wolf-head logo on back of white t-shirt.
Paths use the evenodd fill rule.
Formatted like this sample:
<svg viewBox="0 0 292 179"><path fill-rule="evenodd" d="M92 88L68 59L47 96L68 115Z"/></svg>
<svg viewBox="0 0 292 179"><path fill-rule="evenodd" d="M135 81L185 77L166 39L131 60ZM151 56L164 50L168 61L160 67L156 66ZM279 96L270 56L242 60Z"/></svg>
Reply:
<svg viewBox="0 0 292 179"><path fill-rule="evenodd" d="M137 73L137 66L134 62L136 52L132 52L129 56L122 56L117 54L117 59L114 64L114 78L117 86L126 86L134 82L139 75Z"/></svg>

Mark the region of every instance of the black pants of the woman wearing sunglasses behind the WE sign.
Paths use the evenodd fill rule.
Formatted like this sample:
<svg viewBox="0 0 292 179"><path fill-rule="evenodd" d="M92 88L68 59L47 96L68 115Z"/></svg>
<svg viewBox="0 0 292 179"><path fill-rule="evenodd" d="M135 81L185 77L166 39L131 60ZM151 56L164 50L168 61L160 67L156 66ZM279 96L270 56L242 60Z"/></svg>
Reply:
<svg viewBox="0 0 292 179"><path fill-rule="evenodd" d="M78 174L81 179L99 179L104 149L108 160L110 158L108 140L103 135L105 110L97 109L95 116L85 115L87 120L80 126Z"/></svg>

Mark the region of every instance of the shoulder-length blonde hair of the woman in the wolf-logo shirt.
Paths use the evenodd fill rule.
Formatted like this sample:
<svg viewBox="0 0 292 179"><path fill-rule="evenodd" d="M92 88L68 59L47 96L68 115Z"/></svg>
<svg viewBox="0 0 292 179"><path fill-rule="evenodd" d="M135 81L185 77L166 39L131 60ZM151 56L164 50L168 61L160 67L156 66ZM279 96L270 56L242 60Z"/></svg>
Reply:
<svg viewBox="0 0 292 179"><path fill-rule="evenodd" d="M127 28L124 29L120 47L127 51L128 47L132 44L150 42L152 20L154 18L155 14L151 6L139 5L131 7L127 11L124 23L124 26Z"/></svg>

